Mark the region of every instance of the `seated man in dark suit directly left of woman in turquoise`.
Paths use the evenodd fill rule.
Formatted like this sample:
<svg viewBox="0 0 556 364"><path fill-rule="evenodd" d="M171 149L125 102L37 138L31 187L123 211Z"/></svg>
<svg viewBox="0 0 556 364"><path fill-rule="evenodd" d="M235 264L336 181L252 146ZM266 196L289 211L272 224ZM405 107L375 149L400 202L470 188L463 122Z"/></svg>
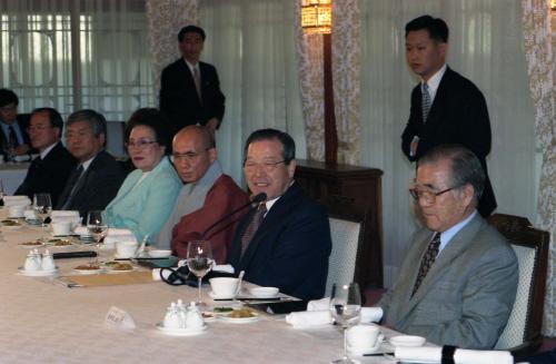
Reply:
<svg viewBox="0 0 556 364"><path fill-rule="evenodd" d="M66 145L78 160L66 183L57 209L77 209L81 216L89 210L105 209L118 193L125 171L103 150L106 119L93 110L76 111L68 118Z"/></svg>

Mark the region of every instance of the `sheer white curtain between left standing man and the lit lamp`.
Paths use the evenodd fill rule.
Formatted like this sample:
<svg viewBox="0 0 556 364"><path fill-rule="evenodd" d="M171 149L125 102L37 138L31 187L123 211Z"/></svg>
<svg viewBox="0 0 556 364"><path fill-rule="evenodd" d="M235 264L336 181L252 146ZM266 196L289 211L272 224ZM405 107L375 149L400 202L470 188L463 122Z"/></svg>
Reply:
<svg viewBox="0 0 556 364"><path fill-rule="evenodd" d="M242 147L259 128L288 131L304 158L305 131L295 48L295 1L202 0L202 60L218 69L226 114L217 131L226 173L242 179Z"/></svg>

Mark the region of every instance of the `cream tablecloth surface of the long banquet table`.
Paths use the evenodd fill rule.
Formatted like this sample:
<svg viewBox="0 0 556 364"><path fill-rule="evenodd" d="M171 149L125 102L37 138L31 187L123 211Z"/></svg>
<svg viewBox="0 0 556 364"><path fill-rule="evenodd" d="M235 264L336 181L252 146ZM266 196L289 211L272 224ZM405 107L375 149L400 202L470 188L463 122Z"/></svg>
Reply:
<svg viewBox="0 0 556 364"><path fill-rule="evenodd" d="M0 210L0 217L6 211ZM147 284L68 288L52 277L18 273L29 249L20 243L44 234L37 227L2 228L0 243L0 363L329 363L342 351L340 331L327 325L297 329L284 316L249 324L216 319L198 336L166 336L156 328L170 302L195 299L197 289ZM90 247L85 247L90 249ZM51 248L63 252L68 247ZM42 249L43 250L43 249ZM58 259L62 275L87 259ZM208 296L203 299L221 306ZM110 327L111 306L125 309L137 327ZM394 332L384 328L386 336ZM393 363L384 357L361 363Z"/></svg>

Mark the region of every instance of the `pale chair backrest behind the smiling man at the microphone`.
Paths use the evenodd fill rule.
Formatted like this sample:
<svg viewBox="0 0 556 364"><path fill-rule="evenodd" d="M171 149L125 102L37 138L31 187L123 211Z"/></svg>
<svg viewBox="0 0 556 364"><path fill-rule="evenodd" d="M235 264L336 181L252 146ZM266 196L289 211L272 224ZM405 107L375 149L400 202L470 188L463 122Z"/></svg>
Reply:
<svg viewBox="0 0 556 364"><path fill-rule="evenodd" d="M363 222L354 222L337 217L329 217L332 252L328 259L328 277L326 279L326 295L331 293L335 283L350 283L354 281L357 257L363 237ZM361 287L361 291L364 287Z"/></svg>

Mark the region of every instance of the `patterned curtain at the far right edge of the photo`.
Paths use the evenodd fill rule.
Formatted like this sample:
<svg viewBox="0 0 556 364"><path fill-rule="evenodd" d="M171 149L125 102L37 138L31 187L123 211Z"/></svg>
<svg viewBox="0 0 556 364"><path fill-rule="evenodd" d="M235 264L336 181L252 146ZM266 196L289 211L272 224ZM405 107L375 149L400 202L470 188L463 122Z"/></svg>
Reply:
<svg viewBox="0 0 556 364"><path fill-rule="evenodd" d="M554 49L552 29L556 21L550 18L548 0L522 0L525 53L527 57L530 95L535 105L535 127L543 153L543 166L538 197L539 228L550 233L548 274L545 297L544 333L556 336L556 116ZM552 22L552 23L550 23Z"/></svg>

